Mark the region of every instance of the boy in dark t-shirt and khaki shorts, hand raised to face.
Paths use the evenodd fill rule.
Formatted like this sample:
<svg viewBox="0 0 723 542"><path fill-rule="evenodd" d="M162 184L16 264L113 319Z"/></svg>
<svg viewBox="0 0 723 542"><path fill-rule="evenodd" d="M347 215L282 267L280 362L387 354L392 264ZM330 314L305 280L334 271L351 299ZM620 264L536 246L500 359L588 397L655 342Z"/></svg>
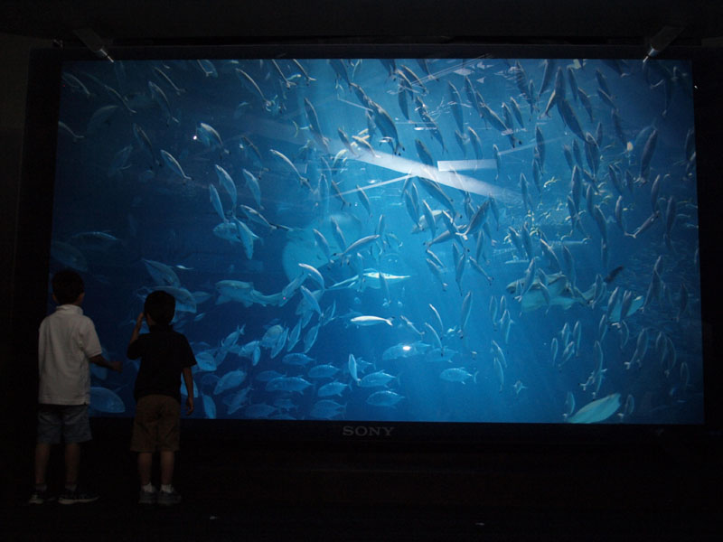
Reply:
<svg viewBox="0 0 723 542"><path fill-rule="evenodd" d="M191 367L196 360L188 340L171 327L174 313L173 295L163 291L148 294L128 343L127 357L141 359L134 389L136 418L131 438L131 451L138 453L141 482L138 502L141 504L170 505L181 501L173 486L175 452L180 441L180 376L183 375L188 394L186 414L190 415L193 412ZM144 318L150 332L139 335ZM155 451L161 456L160 492L151 483Z"/></svg>

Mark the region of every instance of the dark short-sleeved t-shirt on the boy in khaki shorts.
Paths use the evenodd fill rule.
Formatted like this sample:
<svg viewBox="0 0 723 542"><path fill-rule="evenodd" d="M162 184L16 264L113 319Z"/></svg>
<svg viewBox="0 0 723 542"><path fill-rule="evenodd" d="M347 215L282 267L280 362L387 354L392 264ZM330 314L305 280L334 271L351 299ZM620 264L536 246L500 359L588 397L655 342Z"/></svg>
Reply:
<svg viewBox="0 0 723 542"><path fill-rule="evenodd" d="M151 326L150 333L128 345L127 357L141 359L133 392L136 401L147 395L164 395L181 402L181 372L196 364L182 333L174 332L170 325Z"/></svg>

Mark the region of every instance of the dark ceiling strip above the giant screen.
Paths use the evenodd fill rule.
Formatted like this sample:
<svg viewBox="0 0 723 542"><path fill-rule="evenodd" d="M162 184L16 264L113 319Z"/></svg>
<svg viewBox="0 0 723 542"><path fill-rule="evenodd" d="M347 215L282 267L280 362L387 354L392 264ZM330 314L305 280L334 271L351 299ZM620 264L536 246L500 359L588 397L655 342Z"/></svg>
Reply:
<svg viewBox="0 0 723 542"><path fill-rule="evenodd" d="M107 45L235 42L644 44L680 26L678 45L719 45L720 0L5 0L0 32Z"/></svg>

